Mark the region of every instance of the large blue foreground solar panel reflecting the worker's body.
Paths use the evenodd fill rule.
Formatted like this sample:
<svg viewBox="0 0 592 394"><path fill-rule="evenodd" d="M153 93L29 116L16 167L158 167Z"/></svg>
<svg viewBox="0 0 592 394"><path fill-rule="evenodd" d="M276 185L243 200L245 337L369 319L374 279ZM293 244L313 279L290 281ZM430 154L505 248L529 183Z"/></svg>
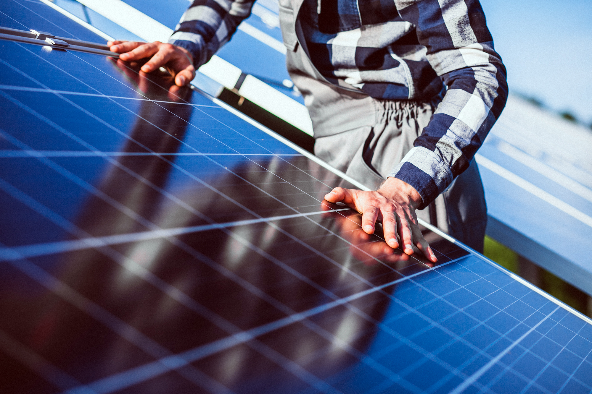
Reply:
<svg viewBox="0 0 592 394"><path fill-rule="evenodd" d="M592 390L589 319L437 231L436 266L393 253L197 90L6 40L0 67L3 393Z"/></svg>

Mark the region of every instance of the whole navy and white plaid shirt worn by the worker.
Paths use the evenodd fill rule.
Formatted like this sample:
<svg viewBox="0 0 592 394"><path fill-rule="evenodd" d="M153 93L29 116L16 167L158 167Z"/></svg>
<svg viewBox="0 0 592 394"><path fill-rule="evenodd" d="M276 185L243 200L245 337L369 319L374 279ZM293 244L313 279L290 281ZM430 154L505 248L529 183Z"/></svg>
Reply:
<svg viewBox="0 0 592 394"><path fill-rule="evenodd" d="M253 1L195 0L170 43L207 62L250 14ZM308 56L330 83L378 99L430 101L423 133L388 176L427 206L471 162L506 104L506 69L478 0L304 0Z"/></svg>

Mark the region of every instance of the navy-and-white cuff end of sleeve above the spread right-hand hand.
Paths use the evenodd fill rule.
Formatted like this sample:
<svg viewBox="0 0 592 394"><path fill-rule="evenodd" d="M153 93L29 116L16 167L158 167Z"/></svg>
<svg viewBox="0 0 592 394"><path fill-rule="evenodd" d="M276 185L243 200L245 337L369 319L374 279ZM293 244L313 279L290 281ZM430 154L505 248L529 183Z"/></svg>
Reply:
<svg viewBox="0 0 592 394"><path fill-rule="evenodd" d="M417 209L426 208L430 202L452 183L452 170L433 151L424 147L413 147L387 177L407 182L422 196Z"/></svg>

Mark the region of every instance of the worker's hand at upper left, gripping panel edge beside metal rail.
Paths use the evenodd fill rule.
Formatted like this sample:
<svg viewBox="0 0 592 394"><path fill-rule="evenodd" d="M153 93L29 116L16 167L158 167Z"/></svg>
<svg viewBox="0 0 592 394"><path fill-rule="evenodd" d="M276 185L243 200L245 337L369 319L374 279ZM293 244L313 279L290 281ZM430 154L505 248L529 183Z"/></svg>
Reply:
<svg viewBox="0 0 592 394"><path fill-rule="evenodd" d="M195 77L193 56L185 48L160 41L153 43L108 41L107 46L112 52L119 53L119 58L124 62L150 57L141 70L149 73L158 70L159 67L165 67L175 78L177 86L187 85Z"/></svg>

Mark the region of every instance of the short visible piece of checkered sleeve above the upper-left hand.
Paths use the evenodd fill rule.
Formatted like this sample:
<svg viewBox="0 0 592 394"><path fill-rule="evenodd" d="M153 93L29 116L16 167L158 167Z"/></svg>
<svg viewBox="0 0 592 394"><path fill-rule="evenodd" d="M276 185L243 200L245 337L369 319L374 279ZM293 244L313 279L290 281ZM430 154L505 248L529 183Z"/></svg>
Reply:
<svg viewBox="0 0 592 394"><path fill-rule="evenodd" d="M249 17L255 0L195 0L191 3L169 44L193 54L195 67L206 63L226 44L237 26Z"/></svg>

